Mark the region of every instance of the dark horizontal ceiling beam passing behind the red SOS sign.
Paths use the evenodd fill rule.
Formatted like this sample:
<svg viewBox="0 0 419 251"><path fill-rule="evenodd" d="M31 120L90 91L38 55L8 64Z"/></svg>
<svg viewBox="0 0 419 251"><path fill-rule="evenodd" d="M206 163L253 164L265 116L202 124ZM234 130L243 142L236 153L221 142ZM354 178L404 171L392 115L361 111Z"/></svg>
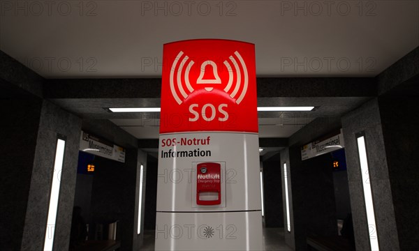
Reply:
<svg viewBox="0 0 419 251"><path fill-rule="evenodd" d="M375 97L374 77L258 77L258 98ZM47 79L45 98L161 98L160 78Z"/></svg>

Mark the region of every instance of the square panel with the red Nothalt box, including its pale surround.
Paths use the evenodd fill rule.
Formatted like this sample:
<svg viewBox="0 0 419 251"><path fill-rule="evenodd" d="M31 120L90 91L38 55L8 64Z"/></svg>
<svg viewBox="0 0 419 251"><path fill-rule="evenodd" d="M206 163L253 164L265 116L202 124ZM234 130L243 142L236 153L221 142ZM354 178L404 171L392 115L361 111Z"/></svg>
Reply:
<svg viewBox="0 0 419 251"><path fill-rule="evenodd" d="M226 162L192 162L192 207L226 207Z"/></svg>

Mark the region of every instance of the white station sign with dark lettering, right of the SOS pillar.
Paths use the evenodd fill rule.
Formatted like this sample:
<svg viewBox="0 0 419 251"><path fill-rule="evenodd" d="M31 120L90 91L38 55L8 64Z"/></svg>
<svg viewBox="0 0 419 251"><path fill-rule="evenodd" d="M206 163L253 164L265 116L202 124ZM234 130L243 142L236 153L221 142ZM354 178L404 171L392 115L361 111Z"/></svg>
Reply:
<svg viewBox="0 0 419 251"><path fill-rule="evenodd" d="M321 142L311 142L301 147L301 160L308 160L309 158L314 158L318 155L330 153L342 149L344 146L344 135L342 133Z"/></svg>

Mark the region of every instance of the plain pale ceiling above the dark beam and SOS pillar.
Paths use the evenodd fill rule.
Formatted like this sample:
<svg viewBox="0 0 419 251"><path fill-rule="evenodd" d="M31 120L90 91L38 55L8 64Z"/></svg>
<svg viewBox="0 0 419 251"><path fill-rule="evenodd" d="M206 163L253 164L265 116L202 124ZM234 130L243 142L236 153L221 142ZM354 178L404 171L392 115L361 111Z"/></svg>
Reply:
<svg viewBox="0 0 419 251"><path fill-rule="evenodd" d="M259 77L375 76L419 45L415 0L187 3L3 1L0 50L43 77L159 77L164 43L226 38Z"/></svg>

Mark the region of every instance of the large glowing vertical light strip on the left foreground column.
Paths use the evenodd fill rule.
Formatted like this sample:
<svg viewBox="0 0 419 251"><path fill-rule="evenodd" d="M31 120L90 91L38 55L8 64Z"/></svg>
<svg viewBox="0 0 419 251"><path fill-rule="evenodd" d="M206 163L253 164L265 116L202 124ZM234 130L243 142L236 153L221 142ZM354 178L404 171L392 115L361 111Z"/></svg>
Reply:
<svg viewBox="0 0 419 251"><path fill-rule="evenodd" d="M61 174L62 174L61 170L63 168L65 148L66 148L66 141L64 139L58 139L57 149L55 150L54 173L52 174L50 208L48 209L44 251L52 250L52 245L54 243L55 222L57 221L59 186L61 185Z"/></svg>

